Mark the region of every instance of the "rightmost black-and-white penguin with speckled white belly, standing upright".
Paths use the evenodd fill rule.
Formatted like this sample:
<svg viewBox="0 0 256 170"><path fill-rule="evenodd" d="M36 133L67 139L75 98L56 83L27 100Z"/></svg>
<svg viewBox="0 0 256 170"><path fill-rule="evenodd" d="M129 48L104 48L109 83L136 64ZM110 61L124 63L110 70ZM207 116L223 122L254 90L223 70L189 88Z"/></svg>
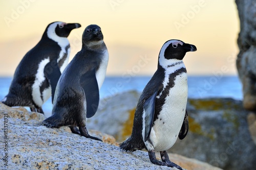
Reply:
<svg viewBox="0 0 256 170"><path fill-rule="evenodd" d="M146 149L152 163L182 169L169 160L166 150L188 132L187 71L182 59L196 50L195 45L176 39L163 44L157 70L140 95L132 135L119 146L122 150ZM156 159L156 151L162 161Z"/></svg>

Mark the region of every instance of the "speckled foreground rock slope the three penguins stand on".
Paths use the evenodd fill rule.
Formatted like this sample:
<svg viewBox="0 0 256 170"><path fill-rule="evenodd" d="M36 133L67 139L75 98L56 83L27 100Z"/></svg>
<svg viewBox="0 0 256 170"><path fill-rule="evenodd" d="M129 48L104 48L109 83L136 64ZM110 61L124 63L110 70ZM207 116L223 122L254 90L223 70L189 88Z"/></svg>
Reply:
<svg viewBox="0 0 256 170"><path fill-rule="evenodd" d="M8 151L1 150L0 169L176 169L152 164L143 151L121 151L110 135L89 130L103 140L100 142L72 134L69 128L40 126L44 119L40 113L10 108L0 102L0 125L4 126L5 121L8 125L7 134L1 131L6 136L1 135L0 148L5 148L8 140ZM169 157L189 170L220 169L176 154Z"/></svg>

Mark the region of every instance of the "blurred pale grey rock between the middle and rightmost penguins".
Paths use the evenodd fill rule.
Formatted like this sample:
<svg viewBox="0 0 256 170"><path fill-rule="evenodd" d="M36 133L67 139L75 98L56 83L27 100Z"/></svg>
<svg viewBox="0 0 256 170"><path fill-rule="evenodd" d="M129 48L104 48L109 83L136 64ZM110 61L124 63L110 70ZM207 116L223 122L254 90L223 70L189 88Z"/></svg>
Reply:
<svg viewBox="0 0 256 170"><path fill-rule="evenodd" d="M87 128L110 134L122 142L132 133L139 96L137 91L127 91L100 100L96 114L87 119Z"/></svg>

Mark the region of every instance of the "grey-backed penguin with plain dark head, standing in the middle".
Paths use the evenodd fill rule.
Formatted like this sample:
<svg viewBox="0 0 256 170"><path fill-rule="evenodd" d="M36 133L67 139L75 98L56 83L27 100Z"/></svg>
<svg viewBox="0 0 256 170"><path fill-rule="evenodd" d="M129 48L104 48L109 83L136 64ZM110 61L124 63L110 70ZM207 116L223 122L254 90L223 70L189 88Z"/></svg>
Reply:
<svg viewBox="0 0 256 170"><path fill-rule="evenodd" d="M109 53L100 27L88 26L82 35L81 51L59 78L52 115L42 125L48 128L69 126L72 133L101 141L88 134L86 118L92 117L98 109L99 90L105 78L108 61Z"/></svg>

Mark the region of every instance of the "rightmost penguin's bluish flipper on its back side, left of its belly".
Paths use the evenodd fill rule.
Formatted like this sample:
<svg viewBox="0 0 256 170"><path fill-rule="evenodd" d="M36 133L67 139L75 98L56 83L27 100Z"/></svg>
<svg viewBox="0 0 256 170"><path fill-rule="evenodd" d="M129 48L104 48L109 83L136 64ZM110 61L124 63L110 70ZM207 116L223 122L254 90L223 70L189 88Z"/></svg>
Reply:
<svg viewBox="0 0 256 170"><path fill-rule="evenodd" d="M155 114L155 102L156 102L157 91L154 92L149 98L145 100L144 110L145 110L145 136L144 142L150 137L150 132L153 124L154 114Z"/></svg>

